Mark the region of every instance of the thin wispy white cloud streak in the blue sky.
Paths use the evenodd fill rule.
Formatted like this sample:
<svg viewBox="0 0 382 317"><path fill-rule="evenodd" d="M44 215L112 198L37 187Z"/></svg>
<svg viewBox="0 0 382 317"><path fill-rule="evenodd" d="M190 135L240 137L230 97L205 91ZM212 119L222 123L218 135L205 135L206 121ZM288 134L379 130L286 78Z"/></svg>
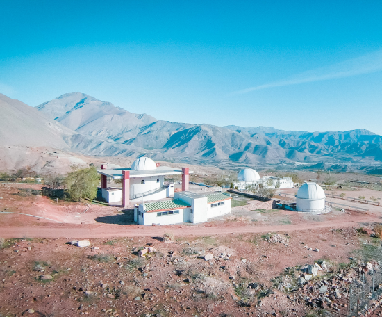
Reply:
<svg viewBox="0 0 382 317"><path fill-rule="evenodd" d="M379 72L382 70L382 50L376 51L372 54L344 60L343 62L330 65L327 67L316 68L297 74L296 76L283 79L281 81L274 81L273 83L266 83L260 86L249 87L233 94L245 94L247 92L262 90L267 88L274 88L280 86L297 85L299 83L311 83L313 81L325 81L328 79L337 79L344 77L351 77L360 74L369 74L372 72Z"/></svg>

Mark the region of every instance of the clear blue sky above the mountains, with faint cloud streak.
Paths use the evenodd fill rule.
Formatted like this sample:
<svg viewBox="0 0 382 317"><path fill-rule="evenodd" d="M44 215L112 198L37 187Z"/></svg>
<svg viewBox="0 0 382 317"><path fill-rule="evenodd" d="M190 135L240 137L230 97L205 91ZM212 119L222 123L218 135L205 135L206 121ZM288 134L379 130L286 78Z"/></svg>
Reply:
<svg viewBox="0 0 382 317"><path fill-rule="evenodd" d="M382 1L2 1L0 92L159 120L382 134Z"/></svg>

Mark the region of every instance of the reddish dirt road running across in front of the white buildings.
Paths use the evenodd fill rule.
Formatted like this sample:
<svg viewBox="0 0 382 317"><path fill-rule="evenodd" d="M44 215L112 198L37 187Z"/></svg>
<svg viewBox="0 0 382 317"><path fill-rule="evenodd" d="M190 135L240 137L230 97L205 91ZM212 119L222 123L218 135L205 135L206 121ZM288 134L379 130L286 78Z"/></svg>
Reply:
<svg viewBox="0 0 382 317"><path fill-rule="evenodd" d="M175 236L211 236L222 234L245 234L289 232L308 229L358 227L364 222L381 222L381 216L365 214L349 220L330 220L296 225L238 225L232 222L202 225L169 225L144 227L140 225L72 225L44 224L25 227L0 227L3 238L113 238L163 236L171 232Z"/></svg>

